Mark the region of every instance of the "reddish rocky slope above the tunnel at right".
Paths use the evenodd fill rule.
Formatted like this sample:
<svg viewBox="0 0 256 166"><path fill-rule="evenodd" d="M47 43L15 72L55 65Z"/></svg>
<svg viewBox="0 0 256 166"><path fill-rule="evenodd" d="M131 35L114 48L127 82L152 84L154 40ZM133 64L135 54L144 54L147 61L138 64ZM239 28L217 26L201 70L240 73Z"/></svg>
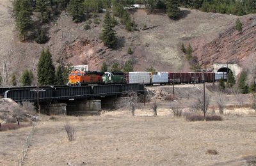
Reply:
<svg viewBox="0 0 256 166"><path fill-rule="evenodd" d="M240 20L243 24L241 32L230 26L211 41L205 41L204 37L191 40L193 55L202 66L211 67L212 61L234 61L244 69L252 67L252 61L256 60L256 15L246 15Z"/></svg>

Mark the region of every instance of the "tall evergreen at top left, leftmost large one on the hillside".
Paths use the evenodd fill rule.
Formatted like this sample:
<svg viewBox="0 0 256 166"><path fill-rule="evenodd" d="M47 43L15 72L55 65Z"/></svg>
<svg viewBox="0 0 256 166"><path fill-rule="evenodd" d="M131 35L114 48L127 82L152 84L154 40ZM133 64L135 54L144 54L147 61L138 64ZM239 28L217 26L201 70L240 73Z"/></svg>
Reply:
<svg viewBox="0 0 256 166"><path fill-rule="evenodd" d="M20 39L26 40L26 34L28 34L29 30L32 26L32 18L33 9L31 7L30 0L15 0L13 2L13 11L15 17L15 26L19 31Z"/></svg>

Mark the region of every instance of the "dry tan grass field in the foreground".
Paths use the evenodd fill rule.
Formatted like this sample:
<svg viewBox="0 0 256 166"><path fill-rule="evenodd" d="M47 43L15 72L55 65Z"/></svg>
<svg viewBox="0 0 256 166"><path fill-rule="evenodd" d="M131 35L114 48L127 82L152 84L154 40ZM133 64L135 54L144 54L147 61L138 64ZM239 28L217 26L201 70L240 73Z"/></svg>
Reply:
<svg viewBox="0 0 256 166"><path fill-rule="evenodd" d="M223 121L207 122L188 122L168 109L156 117L148 109L136 110L134 117L127 110L42 116L24 165L248 165L256 158L256 116L230 111ZM66 123L76 130L72 142ZM0 165L16 164L26 130L0 132Z"/></svg>

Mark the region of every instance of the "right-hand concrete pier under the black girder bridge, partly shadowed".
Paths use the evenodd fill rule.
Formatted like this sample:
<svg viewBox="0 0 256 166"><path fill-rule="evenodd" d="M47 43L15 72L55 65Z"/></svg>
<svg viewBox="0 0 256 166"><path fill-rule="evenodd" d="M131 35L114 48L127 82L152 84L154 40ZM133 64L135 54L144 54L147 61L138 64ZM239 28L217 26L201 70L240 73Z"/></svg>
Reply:
<svg viewBox="0 0 256 166"><path fill-rule="evenodd" d="M74 100L67 102L67 114L72 116L99 114L100 110L100 100Z"/></svg>

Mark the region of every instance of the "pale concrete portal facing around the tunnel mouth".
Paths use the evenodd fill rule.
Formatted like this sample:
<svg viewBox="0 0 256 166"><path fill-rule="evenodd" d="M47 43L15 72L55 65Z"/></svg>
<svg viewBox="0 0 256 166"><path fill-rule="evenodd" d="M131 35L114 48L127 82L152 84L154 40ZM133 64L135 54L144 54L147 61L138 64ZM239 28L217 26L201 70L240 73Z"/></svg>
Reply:
<svg viewBox="0 0 256 166"><path fill-rule="evenodd" d="M229 72L232 71L233 75L237 76L240 72L242 72L242 68L234 63L234 62L226 62L226 63L219 63L214 62L212 64L213 71L212 72Z"/></svg>

